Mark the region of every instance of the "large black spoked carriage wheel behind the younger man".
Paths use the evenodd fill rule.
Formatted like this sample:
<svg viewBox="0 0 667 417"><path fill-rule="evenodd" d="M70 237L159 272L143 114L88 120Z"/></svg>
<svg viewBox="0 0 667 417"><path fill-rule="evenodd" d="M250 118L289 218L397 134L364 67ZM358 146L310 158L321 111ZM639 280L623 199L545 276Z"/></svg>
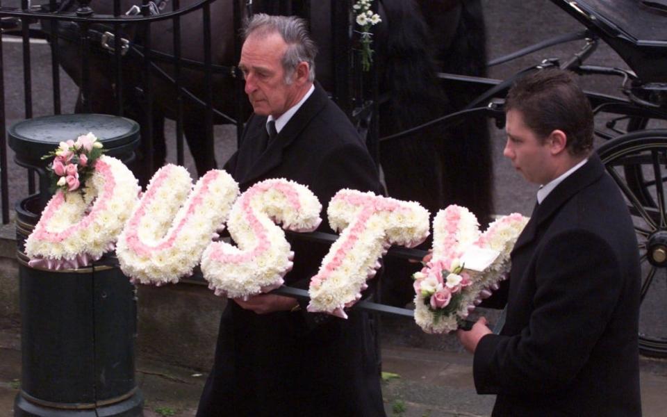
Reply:
<svg viewBox="0 0 667 417"><path fill-rule="evenodd" d="M625 197L639 241L639 350L667 357L667 130L618 136L598 154Z"/></svg>

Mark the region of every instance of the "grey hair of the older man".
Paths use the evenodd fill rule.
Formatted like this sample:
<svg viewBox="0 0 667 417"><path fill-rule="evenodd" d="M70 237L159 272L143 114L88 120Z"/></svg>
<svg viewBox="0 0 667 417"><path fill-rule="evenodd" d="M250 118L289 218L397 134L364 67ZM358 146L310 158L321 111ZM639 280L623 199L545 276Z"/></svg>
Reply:
<svg viewBox="0 0 667 417"><path fill-rule="evenodd" d="M308 63L310 72L308 81L315 81L315 56L318 47L308 33L308 24L296 16L271 16L258 13L245 21L242 30L243 39L249 35L267 36L278 33L287 43L287 51L283 56L283 69L285 70L285 82L292 82L292 74L297 65L302 62Z"/></svg>

